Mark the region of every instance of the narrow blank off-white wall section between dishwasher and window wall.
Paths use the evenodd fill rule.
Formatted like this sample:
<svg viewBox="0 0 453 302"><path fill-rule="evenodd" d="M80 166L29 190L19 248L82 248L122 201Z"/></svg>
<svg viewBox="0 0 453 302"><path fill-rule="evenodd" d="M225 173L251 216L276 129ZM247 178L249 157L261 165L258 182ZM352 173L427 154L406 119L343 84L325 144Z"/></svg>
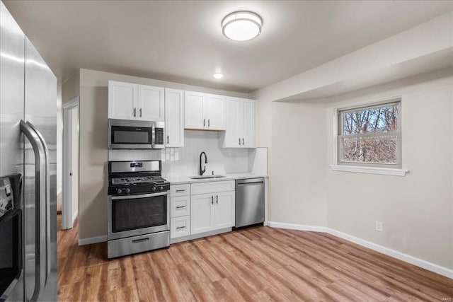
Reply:
<svg viewBox="0 0 453 302"><path fill-rule="evenodd" d="M270 221L327 225L326 110L272 104Z"/></svg>

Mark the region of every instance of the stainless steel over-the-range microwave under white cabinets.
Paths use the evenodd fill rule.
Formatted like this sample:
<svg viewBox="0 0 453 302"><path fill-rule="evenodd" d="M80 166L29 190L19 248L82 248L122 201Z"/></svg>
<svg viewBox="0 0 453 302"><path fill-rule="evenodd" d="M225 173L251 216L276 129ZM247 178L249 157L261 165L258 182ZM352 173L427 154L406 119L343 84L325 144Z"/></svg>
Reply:
<svg viewBox="0 0 453 302"><path fill-rule="evenodd" d="M164 149L164 122L108 119L108 149Z"/></svg>

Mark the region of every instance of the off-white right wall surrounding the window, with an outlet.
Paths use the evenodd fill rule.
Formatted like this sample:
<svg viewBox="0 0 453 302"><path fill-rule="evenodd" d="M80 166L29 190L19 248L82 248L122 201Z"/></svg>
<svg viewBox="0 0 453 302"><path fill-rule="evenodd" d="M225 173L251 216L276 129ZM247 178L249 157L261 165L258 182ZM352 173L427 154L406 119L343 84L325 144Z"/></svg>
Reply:
<svg viewBox="0 0 453 302"><path fill-rule="evenodd" d="M328 170L328 227L453 269L452 70L331 98L327 157L333 163L333 107L401 96L405 177ZM384 230L374 231L374 221Z"/></svg>

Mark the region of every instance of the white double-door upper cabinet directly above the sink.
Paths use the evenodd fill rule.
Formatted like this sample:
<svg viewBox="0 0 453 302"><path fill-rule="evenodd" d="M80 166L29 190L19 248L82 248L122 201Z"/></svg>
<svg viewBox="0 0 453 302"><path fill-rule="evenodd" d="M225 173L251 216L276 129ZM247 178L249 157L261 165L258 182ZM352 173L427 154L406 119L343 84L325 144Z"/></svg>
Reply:
<svg viewBox="0 0 453 302"><path fill-rule="evenodd" d="M185 91L185 128L225 130L225 97Z"/></svg>

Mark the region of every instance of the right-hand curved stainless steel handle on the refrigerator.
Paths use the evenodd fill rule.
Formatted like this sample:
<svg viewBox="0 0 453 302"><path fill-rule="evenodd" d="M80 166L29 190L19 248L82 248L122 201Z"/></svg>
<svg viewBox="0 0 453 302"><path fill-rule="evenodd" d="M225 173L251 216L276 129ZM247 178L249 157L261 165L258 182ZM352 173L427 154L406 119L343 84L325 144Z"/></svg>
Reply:
<svg viewBox="0 0 453 302"><path fill-rule="evenodd" d="M36 127L32 123L27 122L27 124L36 132L36 134L38 134L42 147L44 148L44 155L45 155L45 208L46 208L45 209L45 214L46 214L45 235L46 235L46 247L47 247L47 253L46 253L47 277L45 280L45 284L47 284L47 279L50 276L50 264L51 264L51 260L50 260L51 252L50 252L50 159L49 159L49 148L47 147L47 143L45 142L44 137L42 137L41 132L39 132L38 129L36 129Z"/></svg>

